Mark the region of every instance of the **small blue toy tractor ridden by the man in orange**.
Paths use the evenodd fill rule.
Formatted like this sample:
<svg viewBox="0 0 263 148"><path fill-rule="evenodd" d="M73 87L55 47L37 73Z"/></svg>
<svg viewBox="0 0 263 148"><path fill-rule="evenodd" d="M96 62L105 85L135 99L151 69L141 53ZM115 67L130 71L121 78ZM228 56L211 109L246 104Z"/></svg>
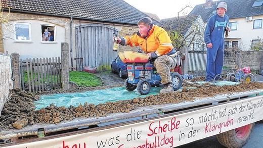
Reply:
<svg viewBox="0 0 263 148"><path fill-rule="evenodd" d="M171 72L173 90L176 91L182 86L182 78L178 72ZM151 63L132 63L127 64L128 78L124 82L125 89L133 91L137 88L141 94L148 94L151 86L159 86L161 77L154 73L154 67Z"/></svg>

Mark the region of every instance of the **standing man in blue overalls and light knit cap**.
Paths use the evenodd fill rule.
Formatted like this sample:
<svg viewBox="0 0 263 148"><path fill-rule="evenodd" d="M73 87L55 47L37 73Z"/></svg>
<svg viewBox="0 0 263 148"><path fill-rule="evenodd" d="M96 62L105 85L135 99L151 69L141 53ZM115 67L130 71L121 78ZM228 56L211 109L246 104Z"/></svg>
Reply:
<svg viewBox="0 0 263 148"><path fill-rule="evenodd" d="M216 11L217 14L211 16L207 21L204 32L204 41L207 46L205 78L207 82L212 82L214 77L222 72L224 61L224 33L229 21L228 16L225 15L227 4L225 2L219 3ZM218 77L215 80L218 80Z"/></svg>

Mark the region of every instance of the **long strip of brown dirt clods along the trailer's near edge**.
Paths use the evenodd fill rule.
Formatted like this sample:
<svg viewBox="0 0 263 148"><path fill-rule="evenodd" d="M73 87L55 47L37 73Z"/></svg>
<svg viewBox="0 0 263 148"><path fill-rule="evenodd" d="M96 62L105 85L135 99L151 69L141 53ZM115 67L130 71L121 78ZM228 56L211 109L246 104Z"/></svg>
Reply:
<svg viewBox="0 0 263 148"><path fill-rule="evenodd" d="M38 111L33 110L34 105L32 103L32 101L37 100L37 95L15 91L15 93L12 94L11 100L5 104L3 115L0 117L0 129L13 128L12 124L14 122L24 118L28 120L28 124L59 123L78 117L101 117L110 113L128 113L138 107L169 103L176 104L184 101L193 101L194 97L207 97L221 93L241 92L252 89L263 89L263 83L251 82L241 83L239 85L210 86L189 90L185 87L183 92L149 95L144 98L138 97L133 100L107 102L97 106L87 103L78 107L71 106L69 108L50 105ZM19 95L21 93L28 97L21 97Z"/></svg>

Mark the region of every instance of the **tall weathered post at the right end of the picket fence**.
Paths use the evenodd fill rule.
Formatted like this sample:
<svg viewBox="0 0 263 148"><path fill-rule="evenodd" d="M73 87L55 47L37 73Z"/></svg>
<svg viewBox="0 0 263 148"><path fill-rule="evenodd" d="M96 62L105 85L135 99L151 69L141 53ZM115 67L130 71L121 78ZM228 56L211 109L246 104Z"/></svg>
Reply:
<svg viewBox="0 0 263 148"><path fill-rule="evenodd" d="M61 82L62 82L62 89L67 90L69 89L69 49L68 43L62 42L61 43Z"/></svg>

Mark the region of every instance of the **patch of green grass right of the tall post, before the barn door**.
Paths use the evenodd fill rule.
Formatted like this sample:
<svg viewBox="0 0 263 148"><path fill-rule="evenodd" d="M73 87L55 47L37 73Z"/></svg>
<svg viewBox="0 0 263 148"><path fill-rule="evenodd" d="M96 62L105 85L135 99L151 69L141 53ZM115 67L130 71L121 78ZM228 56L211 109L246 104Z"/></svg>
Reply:
<svg viewBox="0 0 263 148"><path fill-rule="evenodd" d="M101 86L102 82L93 73L70 71L69 81L75 82L78 86Z"/></svg>

